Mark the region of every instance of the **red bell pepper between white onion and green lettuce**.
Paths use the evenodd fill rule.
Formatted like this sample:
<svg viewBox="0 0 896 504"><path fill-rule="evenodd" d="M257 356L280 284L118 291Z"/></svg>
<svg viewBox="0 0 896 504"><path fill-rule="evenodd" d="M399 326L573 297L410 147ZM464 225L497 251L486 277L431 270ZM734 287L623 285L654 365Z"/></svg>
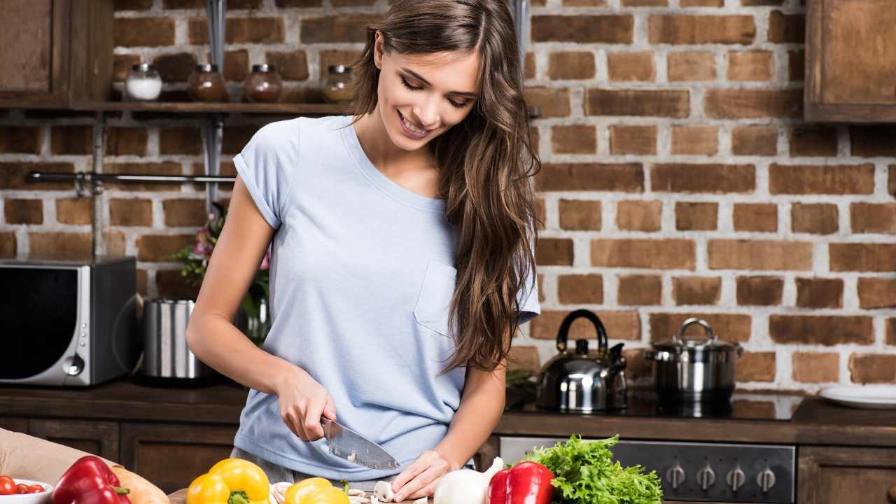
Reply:
<svg viewBox="0 0 896 504"><path fill-rule="evenodd" d="M487 504L550 504L554 498L550 469L536 462L522 462L503 469L488 482Z"/></svg>

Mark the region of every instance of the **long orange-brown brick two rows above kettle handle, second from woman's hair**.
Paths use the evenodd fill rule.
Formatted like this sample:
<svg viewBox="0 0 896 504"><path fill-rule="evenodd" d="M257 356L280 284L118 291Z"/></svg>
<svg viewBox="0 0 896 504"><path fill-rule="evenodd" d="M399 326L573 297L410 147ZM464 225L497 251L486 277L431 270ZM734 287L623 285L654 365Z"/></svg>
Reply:
<svg viewBox="0 0 896 504"><path fill-rule="evenodd" d="M696 246L690 239L595 239L591 265L616 268L694 270Z"/></svg>

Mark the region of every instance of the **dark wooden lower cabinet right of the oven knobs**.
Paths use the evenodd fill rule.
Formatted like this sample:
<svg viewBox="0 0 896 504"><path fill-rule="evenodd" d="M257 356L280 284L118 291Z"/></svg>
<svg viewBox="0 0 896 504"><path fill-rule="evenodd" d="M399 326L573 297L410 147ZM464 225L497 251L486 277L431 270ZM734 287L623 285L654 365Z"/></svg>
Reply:
<svg viewBox="0 0 896 504"><path fill-rule="evenodd" d="M896 504L896 449L799 448L799 504Z"/></svg>

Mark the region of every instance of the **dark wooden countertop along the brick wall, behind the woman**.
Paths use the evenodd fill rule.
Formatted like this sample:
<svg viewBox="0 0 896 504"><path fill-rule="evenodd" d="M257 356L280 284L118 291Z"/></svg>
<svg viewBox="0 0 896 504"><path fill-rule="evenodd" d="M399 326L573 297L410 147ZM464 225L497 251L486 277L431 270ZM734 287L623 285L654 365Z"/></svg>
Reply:
<svg viewBox="0 0 896 504"><path fill-rule="evenodd" d="M0 414L237 425L246 394L233 382L172 388L119 379L86 388L0 387ZM762 395L751 395L757 396L748 408L767 407ZM773 401L779 395L766 396ZM512 436L568 437L573 432L583 437L618 433L624 439L896 447L896 411L847 408L814 396L806 396L789 421L547 413L529 404L505 412L495 428L496 435Z"/></svg>

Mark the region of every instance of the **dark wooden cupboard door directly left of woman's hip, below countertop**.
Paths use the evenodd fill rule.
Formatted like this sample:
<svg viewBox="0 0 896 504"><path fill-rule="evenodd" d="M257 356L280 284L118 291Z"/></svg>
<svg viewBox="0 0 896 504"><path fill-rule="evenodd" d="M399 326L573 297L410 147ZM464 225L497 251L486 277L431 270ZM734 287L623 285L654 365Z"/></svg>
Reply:
<svg viewBox="0 0 896 504"><path fill-rule="evenodd" d="M236 425L122 423L121 463L171 493L228 458L236 434Z"/></svg>

